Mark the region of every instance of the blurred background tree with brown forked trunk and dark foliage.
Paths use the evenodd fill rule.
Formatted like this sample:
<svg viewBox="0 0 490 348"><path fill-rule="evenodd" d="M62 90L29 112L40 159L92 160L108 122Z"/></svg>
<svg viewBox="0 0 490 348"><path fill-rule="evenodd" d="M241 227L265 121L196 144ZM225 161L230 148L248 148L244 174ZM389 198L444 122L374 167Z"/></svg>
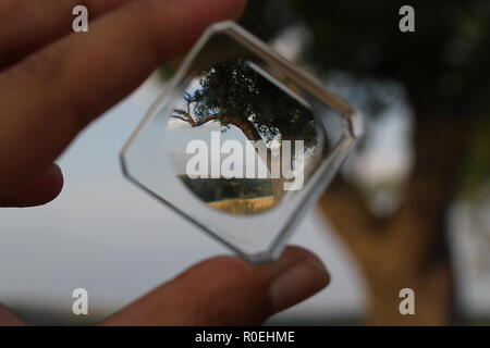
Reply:
<svg viewBox="0 0 490 348"><path fill-rule="evenodd" d="M415 33L399 29L404 4L250 0L242 24L269 41L299 30L301 42L292 42L299 62L326 80L344 76L342 94L369 117L382 114L390 86L403 87L413 163L396 209L376 214L348 177L331 186L320 209L363 270L369 324L450 324L456 307L449 212L490 174L490 2L411 1ZM399 312L404 287L416 293L416 315Z"/></svg>

